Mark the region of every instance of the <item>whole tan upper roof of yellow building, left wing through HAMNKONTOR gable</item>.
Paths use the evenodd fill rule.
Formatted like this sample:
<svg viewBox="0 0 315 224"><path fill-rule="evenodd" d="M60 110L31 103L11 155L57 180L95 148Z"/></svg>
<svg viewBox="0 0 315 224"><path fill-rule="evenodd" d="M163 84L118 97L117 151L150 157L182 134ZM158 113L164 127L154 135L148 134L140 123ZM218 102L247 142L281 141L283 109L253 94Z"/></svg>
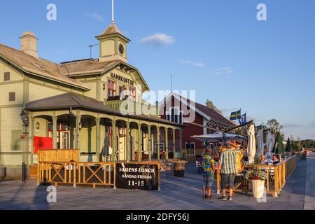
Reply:
<svg viewBox="0 0 315 224"><path fill-rule="evenodd" d="M26 52L22 52L21 50L10 48L2 44L0 44L0 58L10 62L10 64L13 64L25 73L54 80L59 83L65 83L66 85L78 87L83 90L90 90L90 88L72 77L85 76L89 74L103 75L112 69L115 69L117 66L122 65L130 70L137 71L139 80L141 80L141 83L144 85L144 91L150 90L140 71L134 66L120 60L99 62L99 59L86 59L76 62L56 64L43 58L33 57L28 55Z"/></svg>

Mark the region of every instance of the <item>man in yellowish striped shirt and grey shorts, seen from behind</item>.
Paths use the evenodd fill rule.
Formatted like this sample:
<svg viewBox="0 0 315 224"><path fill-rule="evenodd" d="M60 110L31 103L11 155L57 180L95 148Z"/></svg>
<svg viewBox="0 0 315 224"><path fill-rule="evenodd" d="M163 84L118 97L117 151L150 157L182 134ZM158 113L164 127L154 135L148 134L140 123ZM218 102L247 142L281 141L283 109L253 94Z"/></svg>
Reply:
<svg viewBox="0 0 315 224"><path fill-rule="evenodd" d="M220 170L222 171L221 183L222 183L222 197L220 198L223 201L230 200L232 201L233 189L234 189L234 180L237 173L237 153L235 148L227 149L222 148L222 153L220 157L220 162L218 164L218 175L220 175ZM226 189L230 190L230 197L226 198Z"/></svg>

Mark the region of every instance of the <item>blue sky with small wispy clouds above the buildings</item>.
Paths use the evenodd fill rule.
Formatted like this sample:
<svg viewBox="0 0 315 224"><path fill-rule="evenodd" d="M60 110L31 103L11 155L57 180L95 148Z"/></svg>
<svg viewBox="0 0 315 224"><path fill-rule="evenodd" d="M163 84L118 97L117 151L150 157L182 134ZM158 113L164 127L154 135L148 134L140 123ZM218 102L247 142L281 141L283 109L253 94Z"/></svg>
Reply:
<svg viewBox="0 0 315 224"><path fill-rule="evenodd" d="M55 3L57 21L46 20ZM258 3L267 21L258 21ZM20 48L33 31L53 62L90 57L111 23L111 0L3 1L0 43ZM132 42L129 63L151 90L197 90L225 116L242 109L260 125L276 118L287 137L315 139L315 1L116 0L116 25ZM9 21L9 22L8 22ZM93 57L98 57L94 48Z"/></svg>

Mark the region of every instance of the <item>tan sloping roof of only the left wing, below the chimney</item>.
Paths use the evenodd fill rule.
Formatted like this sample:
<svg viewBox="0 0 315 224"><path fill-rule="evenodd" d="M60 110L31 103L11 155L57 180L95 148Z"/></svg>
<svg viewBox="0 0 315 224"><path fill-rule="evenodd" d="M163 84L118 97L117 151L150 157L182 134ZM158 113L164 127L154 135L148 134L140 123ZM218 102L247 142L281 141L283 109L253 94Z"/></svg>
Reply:
<svg viewBox="0 0 315 224"><path fill-rule="evenodd" d="M60 64L55 64L42 58L33 57L21 50L10 48L2 44L0 44L0 57L7 62L10 62L10 64L15 65L18 69L24 71L25 73L55 80L83 90L90 90L87 85L67 77L66 69Z"/></svg>

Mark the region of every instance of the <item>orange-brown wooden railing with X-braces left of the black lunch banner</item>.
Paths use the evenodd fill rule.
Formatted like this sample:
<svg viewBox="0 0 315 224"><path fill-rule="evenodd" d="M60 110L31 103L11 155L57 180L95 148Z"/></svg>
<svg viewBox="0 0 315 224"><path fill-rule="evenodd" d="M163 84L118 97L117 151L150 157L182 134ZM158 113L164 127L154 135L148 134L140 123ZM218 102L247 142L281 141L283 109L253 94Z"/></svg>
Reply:
<svg viewBox="0 0 315 224"><path fill-rule="evenodd" d="M113 186L116 165L111 162L38 162L37 183Z"/></svg>

